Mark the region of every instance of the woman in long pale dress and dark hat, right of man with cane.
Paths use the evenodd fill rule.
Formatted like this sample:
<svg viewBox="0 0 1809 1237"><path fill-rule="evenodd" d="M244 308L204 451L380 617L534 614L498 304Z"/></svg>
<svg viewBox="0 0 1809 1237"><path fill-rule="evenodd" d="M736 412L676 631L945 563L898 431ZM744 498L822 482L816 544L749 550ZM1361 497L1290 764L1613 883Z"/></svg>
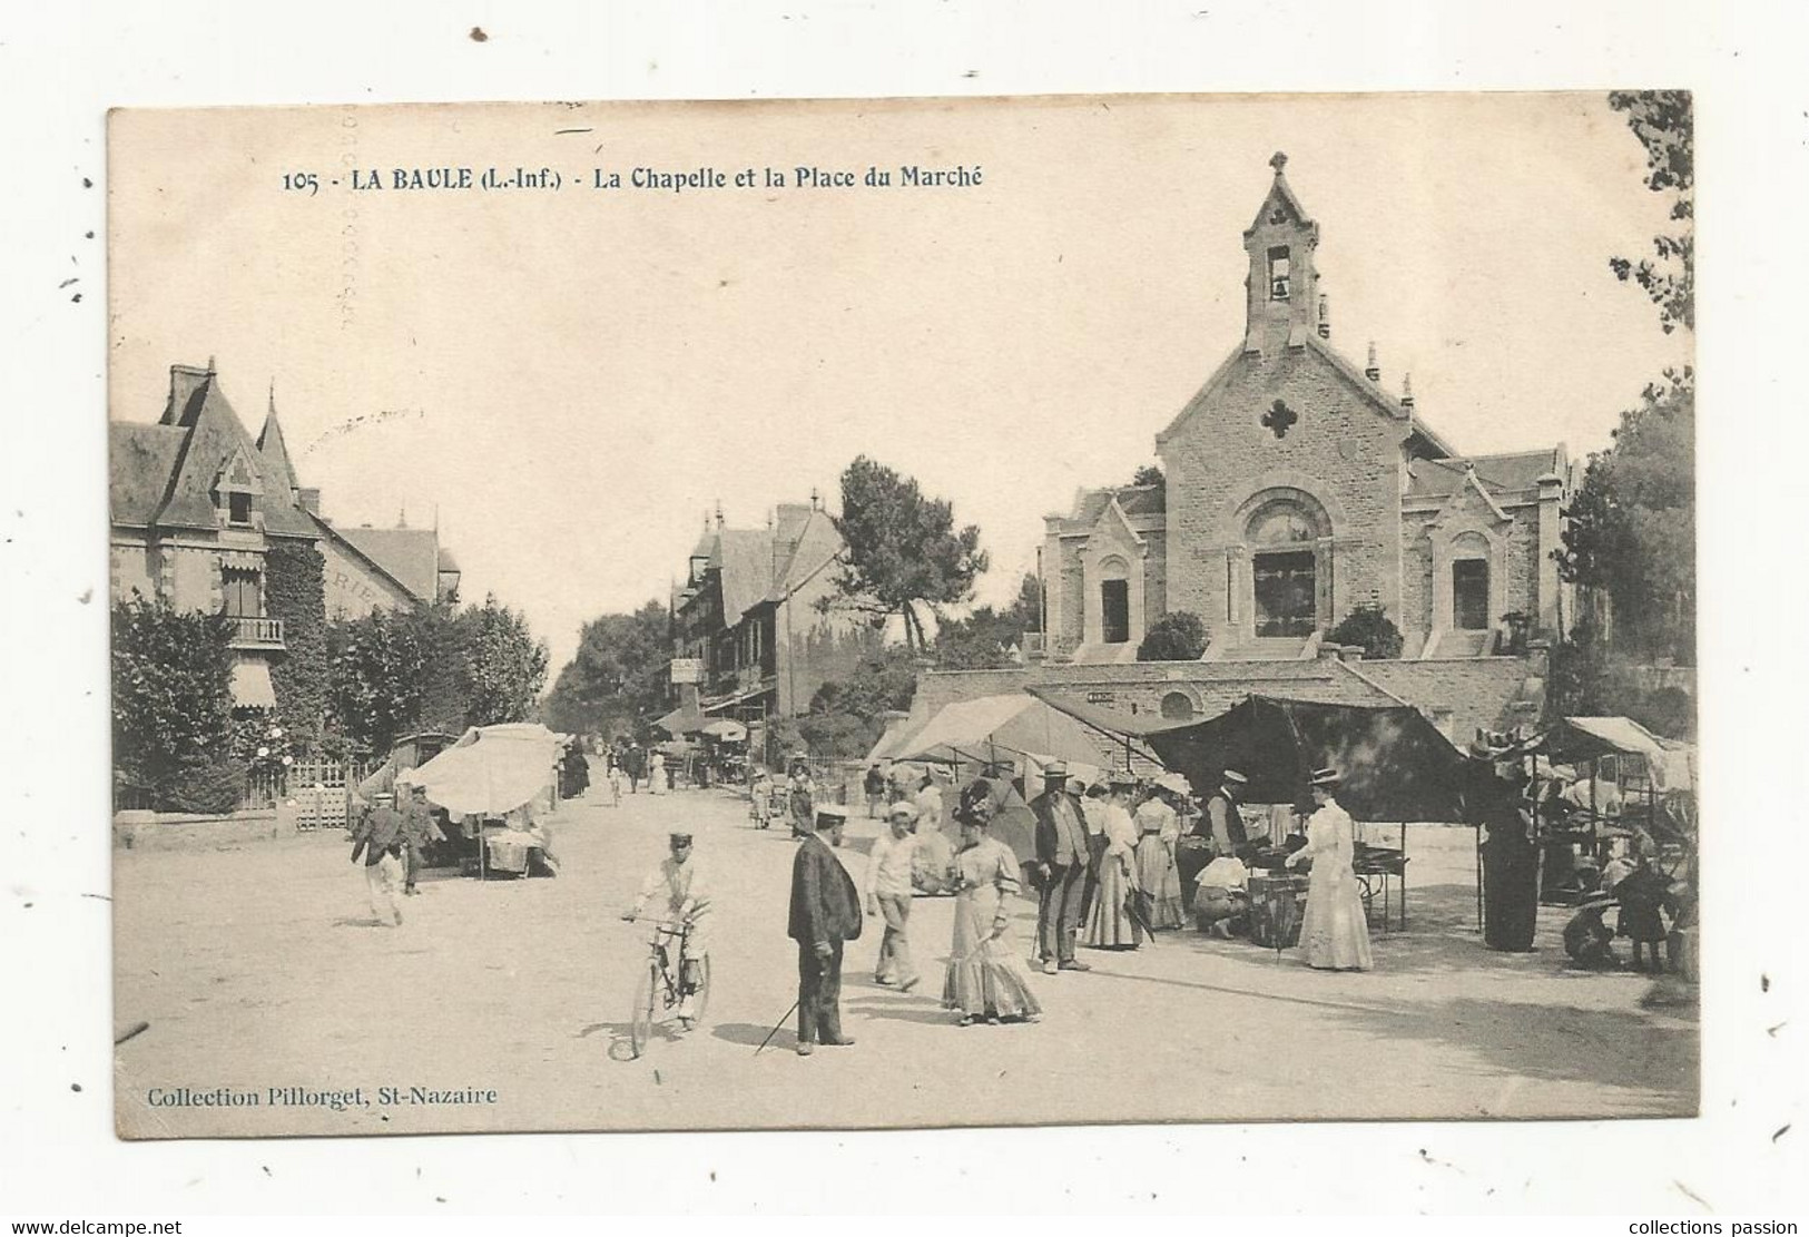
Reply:
<svg viewBox="0 0 1809 1237"><path fill-rule="evenodd" d="M1029 987L1029 968L1011 940L1011 899L1018 895L1017 855L986 834L993 798L984 779L961 796L961 854L950 872L955 883L955 935L942 975L942 1007L975 1022L1035 1022L1042 1004Z"/></svg>

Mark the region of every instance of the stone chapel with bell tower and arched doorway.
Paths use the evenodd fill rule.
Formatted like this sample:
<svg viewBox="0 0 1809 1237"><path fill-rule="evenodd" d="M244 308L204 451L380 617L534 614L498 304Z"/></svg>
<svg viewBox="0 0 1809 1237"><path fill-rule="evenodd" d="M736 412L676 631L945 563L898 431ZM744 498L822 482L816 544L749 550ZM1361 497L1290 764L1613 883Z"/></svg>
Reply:
<svg viewBox="0 0 1809 1237"><path fill-rule="evenodd" d="M1411 385L1337 353L1313 222L1284 156L1243 235L1245 336L1156 436L1165 485L1082 492L1046 517L1047 664L1134 662L1156 618L1201 617L1203 660L1313 658L1360 606L1404 660L1492 656L1570 613L1552 552L1563 445L1460 456Z"/></svg>

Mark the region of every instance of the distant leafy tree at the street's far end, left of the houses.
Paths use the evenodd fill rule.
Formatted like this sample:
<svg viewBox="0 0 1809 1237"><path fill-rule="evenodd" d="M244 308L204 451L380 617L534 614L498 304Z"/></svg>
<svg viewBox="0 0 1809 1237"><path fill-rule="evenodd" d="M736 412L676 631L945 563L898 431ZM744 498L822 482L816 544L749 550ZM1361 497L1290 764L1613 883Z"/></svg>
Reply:
<svg viewBox="0 0 1809 1237"><path fill-rule="evenodd" d="M671 629L660 602L649 600L631 615L593 618L546 696L546 716L555 729L573 734L646 740L651 718L666 711L671 658Z"/></svg>

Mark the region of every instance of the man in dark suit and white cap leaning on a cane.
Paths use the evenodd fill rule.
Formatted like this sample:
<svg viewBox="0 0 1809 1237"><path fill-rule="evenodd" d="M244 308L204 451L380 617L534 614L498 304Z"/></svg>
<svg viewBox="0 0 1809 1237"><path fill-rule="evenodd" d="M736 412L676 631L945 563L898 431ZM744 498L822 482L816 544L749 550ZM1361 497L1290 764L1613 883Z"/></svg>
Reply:
<svg viewBox="0 0 1809 1237"><path fill-rule="evenodd" d="M848 808L819 805L816 832L798 845L792 859L787 931L798 942L798 1056L810 1056L818 1043L854 1043L841 1034L841 948L861 935L861 899L832 850L841 845L847 823Z"/></svg>

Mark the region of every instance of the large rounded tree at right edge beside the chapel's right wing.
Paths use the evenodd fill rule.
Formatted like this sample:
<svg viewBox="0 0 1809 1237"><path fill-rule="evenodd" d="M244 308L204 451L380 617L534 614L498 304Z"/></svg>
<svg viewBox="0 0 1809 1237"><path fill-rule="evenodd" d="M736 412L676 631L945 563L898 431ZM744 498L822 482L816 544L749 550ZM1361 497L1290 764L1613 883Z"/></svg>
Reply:
<svg viewBox="0 0 1809 1237"><path fill-rule="evenodd" d="M1558 568L1610 600L1599 638L1632 656L1695 660L1695 374L1666 371L1590 456Z"/></svg>

